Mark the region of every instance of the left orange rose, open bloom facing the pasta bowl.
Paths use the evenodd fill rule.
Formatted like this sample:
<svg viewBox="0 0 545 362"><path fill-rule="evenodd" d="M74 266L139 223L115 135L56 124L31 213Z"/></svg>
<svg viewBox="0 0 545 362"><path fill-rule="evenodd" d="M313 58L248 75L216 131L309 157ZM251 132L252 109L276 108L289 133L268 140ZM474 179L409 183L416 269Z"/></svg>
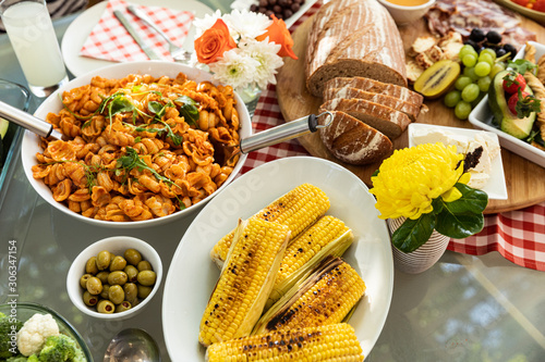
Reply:
<svg viewBox="0 0 545 362"><path fill-rule="evenodd" d="M195 39L195 52L199 63L209 64L218 60L228 50L237 48L237 43L229 35L229 28L221 18L213 27Z"/></svg>

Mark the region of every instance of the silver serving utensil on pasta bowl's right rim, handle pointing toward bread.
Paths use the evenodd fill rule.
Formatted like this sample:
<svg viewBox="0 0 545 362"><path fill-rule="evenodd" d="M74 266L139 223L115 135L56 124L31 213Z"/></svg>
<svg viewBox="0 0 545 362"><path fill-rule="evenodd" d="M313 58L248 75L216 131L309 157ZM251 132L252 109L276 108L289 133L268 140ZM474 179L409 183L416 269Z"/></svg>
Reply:
<svg viewBox="0 0 545 362"><path fill-rule="evenodd" d="M318 118L323 116L327 116L327 120L320 124ZM320 128L329 126L332 121L332 113L326 111L318 115L305 115L304 117L288 122L283 125L263 130L258 134L241 139L239 145L225 145L219 141L211 141L214 143L216 159L223 159L222 164L225 165L237 154L250 153L267 146L272 146L314 133Z"/></svg>

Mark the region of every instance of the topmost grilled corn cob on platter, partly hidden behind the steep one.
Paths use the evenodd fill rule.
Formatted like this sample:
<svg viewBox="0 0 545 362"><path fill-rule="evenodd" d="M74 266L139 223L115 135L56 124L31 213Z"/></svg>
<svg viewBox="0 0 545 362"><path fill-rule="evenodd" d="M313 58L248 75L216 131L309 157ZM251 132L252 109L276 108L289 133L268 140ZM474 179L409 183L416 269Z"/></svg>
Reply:
<svg viewBox="0 0 545 362"><path fill-rule="evenodd" d="M253 217L287 225L295 237L314 224L329 209L329 199L318 187L303 184L281 196ZM232 242L234 230L219 240L210 252L210 258L221 267Z"/></svg>

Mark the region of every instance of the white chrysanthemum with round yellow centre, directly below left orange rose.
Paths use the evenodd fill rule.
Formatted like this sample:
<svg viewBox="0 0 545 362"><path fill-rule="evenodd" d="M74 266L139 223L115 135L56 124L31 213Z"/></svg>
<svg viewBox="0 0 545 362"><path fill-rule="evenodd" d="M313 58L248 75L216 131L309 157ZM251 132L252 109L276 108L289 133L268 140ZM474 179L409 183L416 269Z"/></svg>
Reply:
<svg viewBox="0 0 545 362"><path fill-rule="evenodd" d="M217 62L210 63L209 66L216 80L233 88L244 88L254 80L259 62L235 48L226 51Z"/></svg>

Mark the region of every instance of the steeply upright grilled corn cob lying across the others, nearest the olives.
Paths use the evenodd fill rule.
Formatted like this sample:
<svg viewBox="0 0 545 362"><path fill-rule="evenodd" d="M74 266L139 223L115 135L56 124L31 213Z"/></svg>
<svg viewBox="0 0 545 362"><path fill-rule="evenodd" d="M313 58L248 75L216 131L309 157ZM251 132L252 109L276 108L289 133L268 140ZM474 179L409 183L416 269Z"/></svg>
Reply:
<svg viewBox="0 0 545 362"><path fill-rule="evenodd" d="M239 222L221 275L201 321L203 346L246 336L263 312L290 229L259 219Z"/></svg>

